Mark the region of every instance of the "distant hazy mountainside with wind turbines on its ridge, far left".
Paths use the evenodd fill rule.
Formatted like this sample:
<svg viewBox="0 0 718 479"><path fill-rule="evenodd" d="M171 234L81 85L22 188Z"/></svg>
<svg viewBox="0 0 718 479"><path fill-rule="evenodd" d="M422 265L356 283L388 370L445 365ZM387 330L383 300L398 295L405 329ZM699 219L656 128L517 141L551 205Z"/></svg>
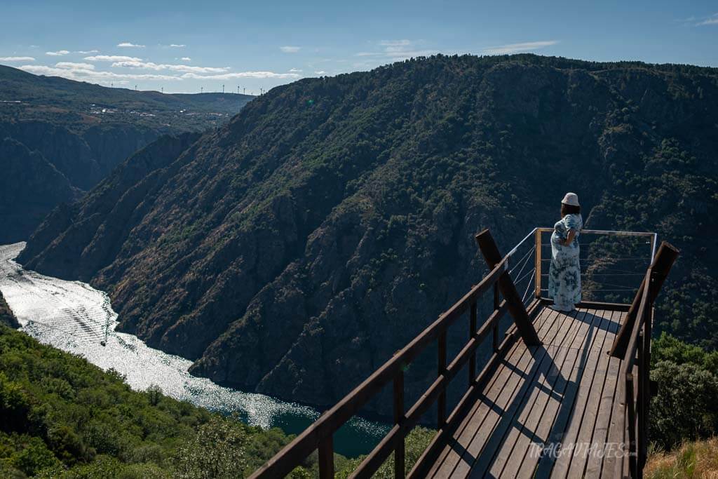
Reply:
<svg viewBox="0 0 718 479"><path fill-rule="evenodd" d="M42 173L32 166L37 162L24 169L26 153L22 148L1 152L3 166L12 164L15 169L13 177L4 178L14 185L9 200L0 204L0 223L4 225L0 243L27 239L52 208L75 195L65 192L59 198L52 192L68 187L89 190L118 163L160 135L218 126L251 98L105 88L0 65L0 141L10 138L37 152L55 172ZM20 192L25 182L42 184L47 195L32 187Z"/></svg>

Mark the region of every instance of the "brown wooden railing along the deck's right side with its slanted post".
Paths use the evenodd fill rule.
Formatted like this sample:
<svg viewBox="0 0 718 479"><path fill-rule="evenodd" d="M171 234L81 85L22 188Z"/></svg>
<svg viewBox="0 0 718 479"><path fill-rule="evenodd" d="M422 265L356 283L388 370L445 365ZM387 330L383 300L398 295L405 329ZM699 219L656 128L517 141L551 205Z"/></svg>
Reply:
<svg viewBox="0 0 718 479"><path fill-rule="evenodd" d="M643 477L648 455L648 411L651 396L655 394L650 378L653 303L678 254L670 244L661 243L609 352L622 360L617 391L622 401L616 406L617 424L611 428L612 437L608 442L624 443L624 434L628 432L627 472L631 478ZM608 457L607 467L614 468L615 477L623 475L622 462L622 457Z"/></svg>

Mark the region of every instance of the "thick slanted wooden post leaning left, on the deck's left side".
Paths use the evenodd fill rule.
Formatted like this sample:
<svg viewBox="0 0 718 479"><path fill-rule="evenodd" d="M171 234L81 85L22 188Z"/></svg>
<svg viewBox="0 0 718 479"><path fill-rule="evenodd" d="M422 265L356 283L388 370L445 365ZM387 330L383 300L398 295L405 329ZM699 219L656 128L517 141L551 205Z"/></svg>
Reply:
<svg viewBox="0 0 718 479"><path fill-rule="evenodd" d="M502 257L491 233L488 230L482 231L476 235L476 242L489 269L494 269L495 266L500 263ZM506 300L508 312L510 312L513 317L513 321L516 323L516 329L518 329L518 332L521 334L523 342L526 343L526 345L541 344L541 340L538 339L536 330L533 328L533 324L531 324L531 319L528 317L526 307L523 306L521 296L518 294L518 291L516 291L516 286L508 274L508 269L499 277L498 287Z"/></svg>

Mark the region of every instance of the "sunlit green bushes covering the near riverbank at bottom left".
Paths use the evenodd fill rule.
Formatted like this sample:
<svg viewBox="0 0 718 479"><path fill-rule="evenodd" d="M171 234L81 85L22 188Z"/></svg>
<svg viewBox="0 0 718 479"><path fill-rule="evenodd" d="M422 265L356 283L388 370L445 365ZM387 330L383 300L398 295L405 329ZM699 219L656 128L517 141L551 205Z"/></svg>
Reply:
<svg viewBox="0 0 718 479"><path fill-rule="evenodd" d="M236 478L288 440L0 325L0 477Z"/></svg>

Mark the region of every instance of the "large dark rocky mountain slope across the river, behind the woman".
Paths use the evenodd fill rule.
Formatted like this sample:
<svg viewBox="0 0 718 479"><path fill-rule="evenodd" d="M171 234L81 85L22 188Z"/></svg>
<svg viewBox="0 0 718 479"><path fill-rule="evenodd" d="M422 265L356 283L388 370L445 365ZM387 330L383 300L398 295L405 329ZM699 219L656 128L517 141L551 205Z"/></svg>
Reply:
<svg viewBox="0 0 718 479"><path fill-rule="evenodd" d="M674 65L438 56L300 80L50 215L20 260L108 290L194 373L323 406L480 279L473 233L507 248L572 190L587 227L682 248L658 329L715 347L717 112L718 72Z"/></svg>

